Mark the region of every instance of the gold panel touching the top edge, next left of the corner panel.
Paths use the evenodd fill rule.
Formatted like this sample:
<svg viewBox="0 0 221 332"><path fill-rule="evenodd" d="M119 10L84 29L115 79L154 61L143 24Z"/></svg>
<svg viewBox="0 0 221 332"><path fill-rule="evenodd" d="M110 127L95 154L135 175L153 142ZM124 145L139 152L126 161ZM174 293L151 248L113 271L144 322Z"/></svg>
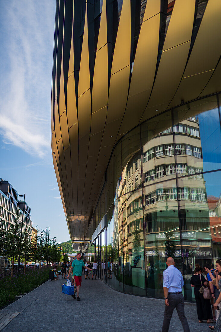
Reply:
<svg viewBox="0 0 221 332"><path fill-rule="evenodd" d="M175 1L163 51L191 40L194 10L195 2L192 0Z"/></svg>

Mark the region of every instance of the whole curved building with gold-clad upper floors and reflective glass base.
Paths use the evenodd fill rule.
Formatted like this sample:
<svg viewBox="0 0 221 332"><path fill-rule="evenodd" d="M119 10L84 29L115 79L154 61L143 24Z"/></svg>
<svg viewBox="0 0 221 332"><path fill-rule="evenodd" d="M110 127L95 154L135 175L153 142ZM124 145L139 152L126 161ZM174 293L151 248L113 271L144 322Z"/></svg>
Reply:
<svg viewBox="0 0 221 332"><path fill-rule="evenodd" d="M163 297L221 256L221 2L57 0L52 154L73 245ZM108 272L112 266L112 279Z"/></svg>

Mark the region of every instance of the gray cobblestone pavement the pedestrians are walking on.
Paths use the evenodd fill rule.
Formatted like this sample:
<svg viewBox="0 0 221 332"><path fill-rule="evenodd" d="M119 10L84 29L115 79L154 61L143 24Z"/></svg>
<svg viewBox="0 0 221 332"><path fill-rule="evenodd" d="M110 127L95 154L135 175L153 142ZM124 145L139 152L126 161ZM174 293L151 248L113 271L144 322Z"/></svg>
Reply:
<svg viewBox="0 0 221 332"><path fill-rule="evenodd" d="M61 277L61 276L59 276ZM47 281L0 311L13 318L3 332L24 331L161 331L164 301L120 293L100 280L84 280L81 301L61 293L63 279ZM17 316L15 313L20 312ZM185 304L190 331L210 331L207 323L199 324L196 306ZM182 332L176 311L169 332Z"/></svg>

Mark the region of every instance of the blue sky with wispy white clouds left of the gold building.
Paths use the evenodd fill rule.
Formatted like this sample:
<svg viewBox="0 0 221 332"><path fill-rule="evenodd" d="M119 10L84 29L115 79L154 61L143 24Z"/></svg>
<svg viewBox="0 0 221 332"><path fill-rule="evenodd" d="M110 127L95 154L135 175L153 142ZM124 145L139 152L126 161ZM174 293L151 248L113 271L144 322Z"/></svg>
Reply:
<svg viewBox="0 0 221 332"><path fill-rule="evenodd" d="M51 153L55 0L0 0L0 178L26 194L33 226L70 239Z"/></svg>

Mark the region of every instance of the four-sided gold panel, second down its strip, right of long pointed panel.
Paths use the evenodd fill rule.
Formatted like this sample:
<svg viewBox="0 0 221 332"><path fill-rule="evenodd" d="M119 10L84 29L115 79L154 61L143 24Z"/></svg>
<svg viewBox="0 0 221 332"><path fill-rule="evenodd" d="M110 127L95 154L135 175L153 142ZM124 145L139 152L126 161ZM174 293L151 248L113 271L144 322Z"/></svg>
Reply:
<svg viewBox="0 0 221 332"><path fill-rule="evenodd" d="M107 44L96 52L93 89L92 113L107 106L108 101L108 60Z"/></svg>

